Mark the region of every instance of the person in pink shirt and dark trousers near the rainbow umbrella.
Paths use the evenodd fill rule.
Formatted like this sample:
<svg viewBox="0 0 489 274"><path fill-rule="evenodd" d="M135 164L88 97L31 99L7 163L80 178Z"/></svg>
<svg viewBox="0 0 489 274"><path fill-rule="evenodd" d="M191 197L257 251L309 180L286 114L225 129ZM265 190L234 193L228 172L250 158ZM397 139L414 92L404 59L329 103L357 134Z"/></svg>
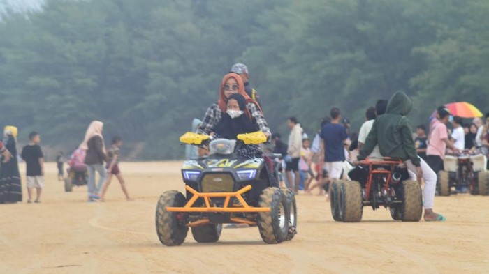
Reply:
<svg viewBox="0 0 489 274"><path fill-rule="evenodd" d="M426 158L428 159L426 162L435 174L444 169L443 159L445 158L446 147L458 151L448 139L446 123L448 123L450 112L446 107L441 106L437 109L437 114L438 117L433 119L430 125L430 138L426 149Z"/></svg>

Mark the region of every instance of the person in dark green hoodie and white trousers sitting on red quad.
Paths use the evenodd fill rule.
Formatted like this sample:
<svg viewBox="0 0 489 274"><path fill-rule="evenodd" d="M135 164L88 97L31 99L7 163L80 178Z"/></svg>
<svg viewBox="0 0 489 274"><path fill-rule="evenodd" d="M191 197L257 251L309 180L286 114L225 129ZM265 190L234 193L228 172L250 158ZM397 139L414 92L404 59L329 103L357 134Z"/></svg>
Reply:
<svg viewBox="0 0 489 274"><path fill-rule="evenodd" d="M365 160L379 144L382 156L401 159L407 169L416 174L418 181L423 178L423 205L425 207L425 221L444 221L441 214L433 211L437 174L416 153L416 146L412 136L411 121L406 117L411 112L413 103L402 91L397 91L387 104L386 113L378 116L372 125L364 146L360 149L358 160Z"/></svg>

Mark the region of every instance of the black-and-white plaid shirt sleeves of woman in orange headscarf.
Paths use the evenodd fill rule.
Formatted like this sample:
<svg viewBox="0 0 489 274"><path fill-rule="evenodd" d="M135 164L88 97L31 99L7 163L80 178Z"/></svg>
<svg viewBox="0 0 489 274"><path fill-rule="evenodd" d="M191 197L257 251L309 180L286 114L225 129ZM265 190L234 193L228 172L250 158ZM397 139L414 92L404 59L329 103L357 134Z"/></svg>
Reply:
<svg viewBox="0 0 489 274"><path fill-rule="evenodd" d="M265 121L265 117L263 116L263 113L261 113L260 109L258 109L258 107L256 107L256 105L252 102L247 103L246 107L248 108L249 113L251 113L251 116L256 120L260 130L265 134L268 133L268 136L270 136L270 128L268 128L267 121ZM202 123L200 123L200 126L197 128L196 132L199 134L210 134L214 125L217 125L217 123L221 120L221 116L221 109L219 109L217 102L214 102L214 104L207 109L207 112L205 112Z"/></svg>

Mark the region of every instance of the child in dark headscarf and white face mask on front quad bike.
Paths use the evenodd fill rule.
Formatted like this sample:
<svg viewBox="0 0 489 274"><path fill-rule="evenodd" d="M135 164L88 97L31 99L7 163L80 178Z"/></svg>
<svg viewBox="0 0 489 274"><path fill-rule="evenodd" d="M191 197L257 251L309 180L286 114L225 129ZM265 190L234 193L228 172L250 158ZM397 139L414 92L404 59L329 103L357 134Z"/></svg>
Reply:
<svg viewBox="0 0 489 274"><path fill-rule="evenodd" d="M239 93L232 94L228 98L226 113L223 114L212 132L214 137L235 140L239 134L258 131L258 125L251 118L246 107L246 100ZM253 157L261 154L260 147L254 144L244 145L238 151L242 157Z"/></svg>

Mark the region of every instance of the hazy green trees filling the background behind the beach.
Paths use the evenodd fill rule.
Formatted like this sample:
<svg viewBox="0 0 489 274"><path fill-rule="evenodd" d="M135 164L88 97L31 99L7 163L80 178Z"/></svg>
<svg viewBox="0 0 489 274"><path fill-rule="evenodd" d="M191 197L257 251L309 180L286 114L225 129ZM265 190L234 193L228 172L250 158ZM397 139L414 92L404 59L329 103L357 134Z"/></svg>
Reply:
<svg viewBox="0 0 489 274"><path fill-rule="evenodd" d="M353 131L394 91L423 123L446 102L489 111L489 2L389 0L46 1L2 15L0 125L73 149L94 119L181 158L177 137L217 100L235 62L250 68L272 130L309 132L331 107Z"/></svg>

